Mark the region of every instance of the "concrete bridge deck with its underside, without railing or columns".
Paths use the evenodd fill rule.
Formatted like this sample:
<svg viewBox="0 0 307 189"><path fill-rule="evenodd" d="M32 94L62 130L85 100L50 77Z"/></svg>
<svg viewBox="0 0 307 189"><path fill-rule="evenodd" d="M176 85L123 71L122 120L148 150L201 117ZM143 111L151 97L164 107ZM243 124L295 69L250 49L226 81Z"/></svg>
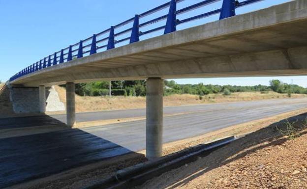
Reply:
<svg viewBox="0 0 307 189"><path fill-rule="evenodd" d="M11 84L307 75L307 1L154 37L21 77Z"/></svg>

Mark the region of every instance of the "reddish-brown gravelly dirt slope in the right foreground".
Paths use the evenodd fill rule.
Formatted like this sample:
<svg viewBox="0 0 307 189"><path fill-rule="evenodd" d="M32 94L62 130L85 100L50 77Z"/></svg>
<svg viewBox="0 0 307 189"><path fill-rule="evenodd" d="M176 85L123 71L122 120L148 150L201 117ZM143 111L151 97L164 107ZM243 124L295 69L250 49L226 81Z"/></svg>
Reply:
<svg viewBox="0 0 307 189"><path fill-rule="evenodd" d="M306 118L288 119L301 130L298 138L280 134L284 121L273 123L135 189L307 189Z"/></svg>

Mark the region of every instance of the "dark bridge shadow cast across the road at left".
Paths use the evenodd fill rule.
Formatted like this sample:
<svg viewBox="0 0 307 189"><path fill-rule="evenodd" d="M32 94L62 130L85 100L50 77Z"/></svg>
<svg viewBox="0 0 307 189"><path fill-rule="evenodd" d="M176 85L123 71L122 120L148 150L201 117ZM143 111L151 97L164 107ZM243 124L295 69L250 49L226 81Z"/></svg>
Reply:
<svg viewBox="0 0 307 189"><path fill-rule="evenodd" d="M47 115L6 118L0 119L0 132L53 124L63 123ZM79 129L2 138L0 152L0 188L124 154L144 157Z"/></svg>

